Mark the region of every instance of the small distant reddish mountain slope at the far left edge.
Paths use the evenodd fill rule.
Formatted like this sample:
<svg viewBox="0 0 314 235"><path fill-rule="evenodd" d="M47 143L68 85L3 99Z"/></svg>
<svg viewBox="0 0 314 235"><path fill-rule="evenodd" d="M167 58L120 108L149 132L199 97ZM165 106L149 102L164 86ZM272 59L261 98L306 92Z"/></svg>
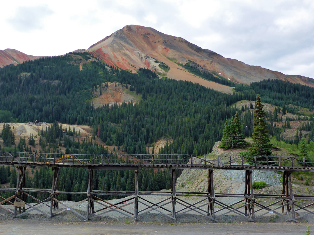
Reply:
<svg viewBox="0 0 314 235"><path fill-rule="evenodd" d="M23 52L14 49L0 50L0 68L5 65L17 65L26 60L35 60L43 56L26 55Z"/></svg>

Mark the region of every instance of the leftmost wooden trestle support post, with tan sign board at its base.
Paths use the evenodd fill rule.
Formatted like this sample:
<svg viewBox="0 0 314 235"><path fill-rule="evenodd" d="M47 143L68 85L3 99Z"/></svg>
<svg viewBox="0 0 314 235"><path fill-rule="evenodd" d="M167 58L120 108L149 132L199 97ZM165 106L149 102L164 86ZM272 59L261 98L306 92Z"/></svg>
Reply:
<svg viewBox="0 0 314 235"><path fill-rule="evenodd" d="M23 212L25 212L25 204L24 206L18 206L16 202L26 201L26 195L20 192L21 189L25 187L26 182L26 166L18 166L18 174L16 181L16 191L15 191L15 205L14 205L14 218L17 215L17 209L19 208L19 213L21 213L21 207L23 208Z"/></svg>

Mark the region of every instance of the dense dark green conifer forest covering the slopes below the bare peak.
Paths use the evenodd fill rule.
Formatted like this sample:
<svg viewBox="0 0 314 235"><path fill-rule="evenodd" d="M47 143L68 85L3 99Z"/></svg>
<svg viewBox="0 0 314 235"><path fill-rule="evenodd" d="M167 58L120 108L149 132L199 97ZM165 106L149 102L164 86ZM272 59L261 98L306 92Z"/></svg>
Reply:
<svg viewBox="0 0 314 235"><path fill-rule="evenodd" d="M79 70L79 63L72 55L90 61ZM199 73L189 64L186 67ZM225 85L231 83L210 73L201 76ZM125 87L130 85L136 94L141 95L141 101L134 105L131 102L95 108L93 95L98 89L101 92L100 84L106 82L121 83ZM87 53L71 53L0 68L0 122L27 123L40 120L52 123L39 136L41 152L46 153L59 153L59 146L65 148L65 153L111 153L95 140L98 137L106 145L115 146L116 150L127 154L154 154L147 152L147 147L152 147L164 138L172 141L167 142L159 154L203 155L210 153L215 142L222 140L226 128L233 128L234 131L232 138L227 135L223 138L224 148L246 146L246 131L252 137L253 107L237 108L234 104L238 101L255 103L259 94L261 102L278 107L273 113L265 113L265 128L270 136L278 140L284 140L284 127L272 124L280 121L277 113L297 113L297 107L314 109L314 88L308 86L279 80L232 86L234 92L225 94L188 81L160 78L149 69L138 68L137 73L132 73L110 67ZM309 131L306 138L309 143L314 137L314 119L311 115L300 115L299 118L304 122L300 129ZM289 125L289 121L292 119L287 119L286 125ZM93 129L93 138L76 141L74 136L79 133L62 129L59 123L88 125ZM285 141L301 141L299 136L298 139ZM35 145L34 136L31 136L28 141L21 137L19 145L15 146L12 130L7 124L3 127L1 140L1 151L29 152L30 146ZM30 185L26 187L51 188L51 168L33 168L31 171L27 175L30 179L26 180ZM176 171L177 176L180 173ZM87 179L86 169L61 168L59 189L86 191ZM139 170L138 179L141 191L159 191L171 187L168 170L142 169ZM128 170L95 170L93 180L95 190L132 191L134 187L134 173ZM0 183L15 187L15 169L1 166ZM9 195L2 196L6 198ZM47 195L34 196L40 199ZM108 199L106 196L100 197ZM74 194L59 196L59 200L81 199L80 195Z"/></svg>

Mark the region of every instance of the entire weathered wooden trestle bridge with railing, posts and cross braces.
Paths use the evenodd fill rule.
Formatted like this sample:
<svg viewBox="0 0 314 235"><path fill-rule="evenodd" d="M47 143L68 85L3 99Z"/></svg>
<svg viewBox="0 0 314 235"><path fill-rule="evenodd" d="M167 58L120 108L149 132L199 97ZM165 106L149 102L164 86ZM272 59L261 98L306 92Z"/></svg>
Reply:
<svg viewBox="0 0 314 235"><path fill-rule="evenodd" d="M11 212L13 218L22 216L31 211L38 211L47 217L53 217L65 211L71 211L85 220L103 215L108 212L119 212L126 217L137 220L139 216L154 211L176 220L179 215L196 212L209 221L217 221L218 216L233 213L246 217L249 221L255 221L258 217L273 213L285 217L289 221L299 222L298 219L307 215L314 215L310 203L300 206L296 202L302 199L314 199L314 196L294 195L292 192L291 172L314 172L314 167L310 166L304 158L295 157L260 157L244 156L212 156L212 155L130 155L130 154L40 154L40 153L16 153L0 152L0 165L14 165L17 167L16 188L0 188L0 191L13 192L14 195L8 198L0 197L0 208ZM52 187L51 189L25 188L25 173L27 166L52 167ZM58 173L60 167L85 167L88 169L88 189L87 192L64 192L58 188ZM168 168L172 172L171 191L148 192L138 191L138 169L139 168ZM205 169L208 170L207 192L176 192L175 169ZM93 170L134 170L135 191L99 191L93 188ZM244 170L245 171L245 191L243 193L215 193L213 171L223 170ZM252 187L253 170L283 171L282 194L265 195L254 194ZM232 182L230 182L231 184ZM44 200L39 200L31 196L31 192L46 192L50 196ZM74 205L68 206L58 200L60 194L84 194L86 198ZM128 199L112 204L97 197L96 195L110 196L130 196ZM145 199L145 195L166 196L160 202L151 202ZM191 204L184 200L186 196L201 198ZM27 197L36 201L34 205L27 203ZM238 198L236 203L227 205L221 202L220 198ZM269 205L263 205L260 198L274 199ZM75 206L87 202L86 213L80 213ZM304 201L304 200L302 200ZM307 201L307 200L306 200ZM13 209L4 206L11 204ZM64 206L63 210L57 210L59 205ZM94 210L94 205L98 204L101 209ZM142 204L143 209L138 209L138 204ZM177 210L176 204L180 204L183 209ZM128 205L134 205L134 210L128 210ZM168 206L166 206L168 205ZM42 211L43 206L50 207L50 213ZM132 206L131 206L132 207ZM171 209L170 209L171 207ZM219 212L219 213L218 213ZM259 213L257 213L259 212ZM298 213L296 213L298 212Z"/></svg>

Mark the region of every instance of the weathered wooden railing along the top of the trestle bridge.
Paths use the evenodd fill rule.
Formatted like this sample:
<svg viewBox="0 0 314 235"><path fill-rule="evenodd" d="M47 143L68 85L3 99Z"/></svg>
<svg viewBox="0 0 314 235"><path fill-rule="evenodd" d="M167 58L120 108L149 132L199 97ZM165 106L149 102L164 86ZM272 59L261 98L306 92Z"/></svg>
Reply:
<svg viewBox="0 0 314 235"><path fill-rule="evenodd" d="M188 154L52 154L0 152L0 164L137 166L198 168L268 168L314 170L314 162L294 156L232 156Z"/></svg>

